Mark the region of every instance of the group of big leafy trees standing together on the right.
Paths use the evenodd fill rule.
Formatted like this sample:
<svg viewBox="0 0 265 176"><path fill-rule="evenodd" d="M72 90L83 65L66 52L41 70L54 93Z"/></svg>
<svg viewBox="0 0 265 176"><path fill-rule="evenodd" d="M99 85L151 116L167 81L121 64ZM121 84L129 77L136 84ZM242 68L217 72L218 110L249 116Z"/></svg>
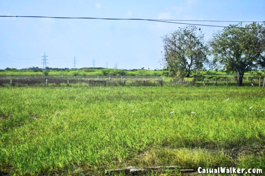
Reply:
<svg viewBox="0 0 265 176"><path fill-rule="evenodd" d="M236 73L242 85L244 73L264 77L265 22L229 25L205 41L201 29L194 25L163 36L163 62L172 78L201 77L210 70L224 69Z"/></svg>

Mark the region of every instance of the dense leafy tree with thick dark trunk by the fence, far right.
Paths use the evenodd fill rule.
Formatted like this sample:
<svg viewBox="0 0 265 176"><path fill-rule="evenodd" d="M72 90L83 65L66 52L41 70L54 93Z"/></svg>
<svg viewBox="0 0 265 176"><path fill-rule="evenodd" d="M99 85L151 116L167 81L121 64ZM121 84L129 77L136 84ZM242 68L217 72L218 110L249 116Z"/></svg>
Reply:
<svg viewBox="0 0 265 176"><path fill-rule="evenodd" d="M221 63L227 73L236 72L238 85L242 85L244 73L253 70L261 55L262 25L242 23L229 25L216 32L210 41L214 60Z"/></svg>

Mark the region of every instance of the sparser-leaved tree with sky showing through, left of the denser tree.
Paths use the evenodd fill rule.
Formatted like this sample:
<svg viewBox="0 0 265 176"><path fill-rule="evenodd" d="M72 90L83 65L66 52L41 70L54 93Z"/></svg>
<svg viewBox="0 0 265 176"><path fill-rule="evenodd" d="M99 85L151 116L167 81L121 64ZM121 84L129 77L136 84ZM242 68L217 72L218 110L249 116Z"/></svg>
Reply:
<svg viewBox="0 0 265 176"><path fill-rule="evenodd" d="M207 58L208 46L204 34L196 26L185 26L162 37L164 63L172 77L202 76L213 69Z"/></svg>

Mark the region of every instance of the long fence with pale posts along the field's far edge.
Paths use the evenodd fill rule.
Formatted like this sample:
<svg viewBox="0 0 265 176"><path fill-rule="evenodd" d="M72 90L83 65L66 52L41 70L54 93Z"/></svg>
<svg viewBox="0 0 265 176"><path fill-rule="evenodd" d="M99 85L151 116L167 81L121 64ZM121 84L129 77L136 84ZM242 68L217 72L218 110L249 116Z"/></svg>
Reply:
<svg viewBox="0 0 265 176"><path fill-rule="evenodd" d="M66 81L67 80L67 81ZM88 77L87 79L64 79L64 78L34 78L30 79L27 77L26 79L0 79L0 86L8 85L10 84L11 86L41 86L41 85L51 85L51 86L71 86L74 84L83 84L86 83L87 80L87 86L164 86L164 85L187 85L187 86L200 86L204 85L206 86L219 86L219 85L235 85L238 83L238 80L235 79L233 82L233 79L215 79L215 80L210 80L210 79L203 79L203 81L189 81L189 79L185 80L170 80L164 82L163 78L156 79L156 80L149 80L149 77L147 80L137 80L137 77L135 80L128 79L125 80L125 78L121 77L121 80L111 80L111 77L107 80L106 78L104 80L99 80L97 78L96 80L92 79L90 80ZM45 82L46 81L46 82ZM249 81L244 81L243 85L244 86L262 86L262 81L263 81L263 87L265 87L265 78L254 80L251 79L250 83ZM217 84L218 83L218 84ZM85 85L85 84L84 84Z"/></svg>

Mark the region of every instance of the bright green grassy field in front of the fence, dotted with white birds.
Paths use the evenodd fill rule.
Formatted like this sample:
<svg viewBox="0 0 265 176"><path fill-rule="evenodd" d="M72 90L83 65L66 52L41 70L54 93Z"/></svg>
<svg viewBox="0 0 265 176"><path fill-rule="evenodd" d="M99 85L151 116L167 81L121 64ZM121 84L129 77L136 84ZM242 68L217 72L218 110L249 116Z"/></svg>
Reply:
<svg viewBox="0 0 265 176"><path fill-rule="evenodd" d="M265 171L263 87L1 87L0 97L0 171L9 175Z"/></svg>

